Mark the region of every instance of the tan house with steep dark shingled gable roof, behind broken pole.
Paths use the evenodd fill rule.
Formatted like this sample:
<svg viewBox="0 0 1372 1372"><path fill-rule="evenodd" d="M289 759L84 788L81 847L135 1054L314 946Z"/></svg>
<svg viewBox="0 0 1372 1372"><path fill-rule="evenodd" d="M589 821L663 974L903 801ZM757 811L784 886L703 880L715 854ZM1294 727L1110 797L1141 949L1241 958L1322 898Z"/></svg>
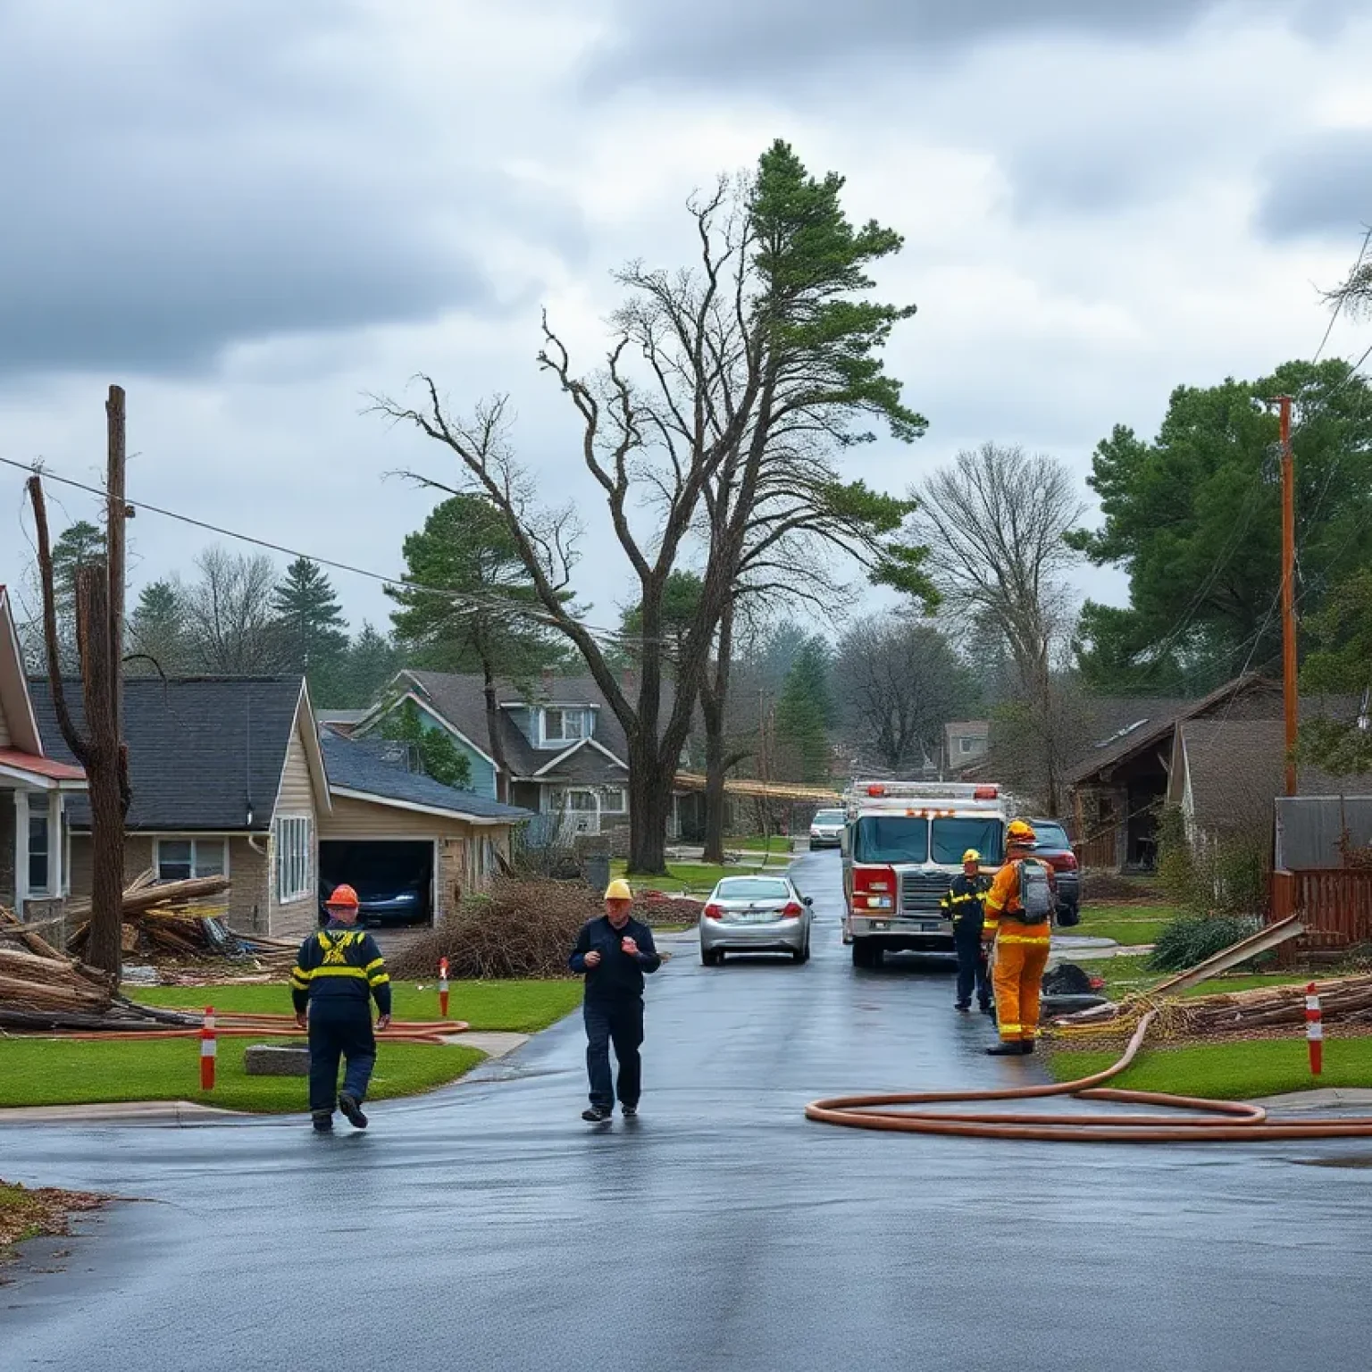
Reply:
<svg viewBox="0 0 1372 1372"><path fill-rule="evenodd" d="M59 757L47 682L30 682L40 731ZM67 707L84 727L81 690ZM133 799L126 879L226 875L235 929L295 937L316 923L317 842L332 801L309 691L299 676L129 678L123 735ZM71 805L71 889L91 890L91 811Z"/></svg>

